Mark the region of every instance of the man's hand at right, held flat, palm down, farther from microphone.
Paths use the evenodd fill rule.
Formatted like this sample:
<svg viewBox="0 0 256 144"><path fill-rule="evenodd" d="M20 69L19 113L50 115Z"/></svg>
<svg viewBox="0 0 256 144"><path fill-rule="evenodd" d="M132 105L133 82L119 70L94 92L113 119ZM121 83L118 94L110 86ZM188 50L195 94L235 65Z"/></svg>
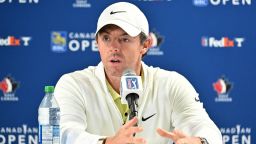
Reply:
<svg viewBox="0 0 256 144"><path fill-rule="evenodd" d="M166 130L157 129L159 135L165 138L172 139L175 144L201 144L199 137L190 137L184 134L182 131L174 130L172 132L168 132Z"/></svg>

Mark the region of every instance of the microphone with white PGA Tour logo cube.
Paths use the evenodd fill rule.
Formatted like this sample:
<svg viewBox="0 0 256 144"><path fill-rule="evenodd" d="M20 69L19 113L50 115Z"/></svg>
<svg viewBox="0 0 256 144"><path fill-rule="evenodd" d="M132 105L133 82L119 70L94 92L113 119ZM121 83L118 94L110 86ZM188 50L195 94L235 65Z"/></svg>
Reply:
<svg viewBox="0 0 256 144"><path fill-rule="evenodd" d="M129 120L138 116L138 99L142 95L142 80L131 69L123 72L121 77L121 102L129 106ZM136 124L137 125L137 124Z"/></svg>

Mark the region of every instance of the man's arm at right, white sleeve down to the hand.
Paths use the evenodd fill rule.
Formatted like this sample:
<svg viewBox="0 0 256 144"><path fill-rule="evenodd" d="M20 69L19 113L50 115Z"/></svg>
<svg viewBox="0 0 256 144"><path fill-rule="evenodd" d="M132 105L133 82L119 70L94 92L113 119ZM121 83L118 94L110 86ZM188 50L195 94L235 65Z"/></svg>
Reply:
<svg viewBox="0 0 256 144"><path fill-rule="evenodd" d="M184 135L175 131L170 133L174 134L174 141L181 138L198 141L199 137L202 137L210 144L222 144L221 133L203 108L203 104L198 101L198 93L183 76L178 73L175 75L177 78L171 83L170 98L173 107L172 124L175 130Z"/></svg>

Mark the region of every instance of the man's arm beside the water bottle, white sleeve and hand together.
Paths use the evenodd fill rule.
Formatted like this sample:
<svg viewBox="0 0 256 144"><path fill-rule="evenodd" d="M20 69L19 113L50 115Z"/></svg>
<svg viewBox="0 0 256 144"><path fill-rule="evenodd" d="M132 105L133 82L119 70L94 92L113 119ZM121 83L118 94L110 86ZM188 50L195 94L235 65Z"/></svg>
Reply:
<svg viewBox="0 0 256 144"><path fill-rule="evenodd" d="M75 80L64 75L55 88L55 98L61 110L61 143L63 144L144 144L143 138L133 137L134 133L141 132L142 127L135 127L138 119L134 118L123 125L114 136L100 136L86 131L86 102L82 97ZM85 92L85 91L84 91ZM95 121L97 122L97 121ZM106 140L105 140L106 139Z"/></svg>

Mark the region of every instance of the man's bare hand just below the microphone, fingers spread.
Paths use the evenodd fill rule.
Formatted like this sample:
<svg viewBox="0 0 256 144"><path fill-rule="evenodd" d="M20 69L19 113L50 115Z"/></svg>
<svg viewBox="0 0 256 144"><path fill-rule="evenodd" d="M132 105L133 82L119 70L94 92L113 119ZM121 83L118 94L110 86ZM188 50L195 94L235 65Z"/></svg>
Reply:
<svg viewBox="0 0 256 144"><path fill-rule="evenodd" d="M134 125L138 122L138 118L134 117L132 120L123 125L116 135L108 137L106 144L146 144L146 140L143 138L133 137L134 133L141 132L142 127L135 127Z"/></svg>

